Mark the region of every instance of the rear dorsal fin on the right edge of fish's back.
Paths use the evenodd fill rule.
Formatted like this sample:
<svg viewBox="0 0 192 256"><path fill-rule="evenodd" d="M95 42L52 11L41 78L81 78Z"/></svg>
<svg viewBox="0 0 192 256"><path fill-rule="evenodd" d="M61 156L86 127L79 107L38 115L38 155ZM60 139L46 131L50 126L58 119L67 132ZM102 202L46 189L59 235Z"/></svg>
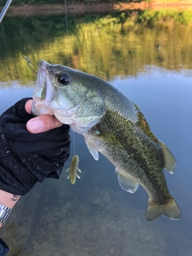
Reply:
<svg viewBox="0 0 192 256"><path fill-rule="evenodd" d="M163 142L159 141L160 146L162 147L162 153L164 155L165 158L165 166L164 168L166 170L168 170L170 172L170 174L174 173L174 169L177 165L176 160L173 156L173 154L170 152L170 150L168 149L168 147L166 146L166 144L164 144Z"/></svg>

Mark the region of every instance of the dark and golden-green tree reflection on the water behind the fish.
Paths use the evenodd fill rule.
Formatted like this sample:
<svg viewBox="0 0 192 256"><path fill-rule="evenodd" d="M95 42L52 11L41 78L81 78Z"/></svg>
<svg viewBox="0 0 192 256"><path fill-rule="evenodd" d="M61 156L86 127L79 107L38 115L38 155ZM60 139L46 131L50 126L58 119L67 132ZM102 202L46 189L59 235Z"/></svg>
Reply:
<svg viewBox="0 0 192 256"><path fill-rule="evenodd" d="M192 69L192 11L9 17L0 27L1 81L35 80L24 56L72 66L106 80L146 65ZM10 30L11 28L11 30Z"/></svg>

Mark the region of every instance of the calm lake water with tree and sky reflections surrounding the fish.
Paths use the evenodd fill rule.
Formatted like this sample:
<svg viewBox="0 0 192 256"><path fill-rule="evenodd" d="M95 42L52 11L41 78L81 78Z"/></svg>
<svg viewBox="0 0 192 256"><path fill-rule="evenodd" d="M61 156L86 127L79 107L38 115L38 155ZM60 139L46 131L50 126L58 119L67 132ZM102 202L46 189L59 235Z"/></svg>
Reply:
<svg viewBox="0 0 192 256"><path fill-rule="evenodd" d="M95 161L82 136L72 134L70 159L79 155L81 179L37 184L14 207L1 237L10 256L190 256L192 254L192 13L129 11L66 17L6 15L0 26L0 112L31 97L37 64L71 66L113 84L145 115L177 160L165 171L182 219L146 222L148 201L118 185L114 166Z"/></svg>

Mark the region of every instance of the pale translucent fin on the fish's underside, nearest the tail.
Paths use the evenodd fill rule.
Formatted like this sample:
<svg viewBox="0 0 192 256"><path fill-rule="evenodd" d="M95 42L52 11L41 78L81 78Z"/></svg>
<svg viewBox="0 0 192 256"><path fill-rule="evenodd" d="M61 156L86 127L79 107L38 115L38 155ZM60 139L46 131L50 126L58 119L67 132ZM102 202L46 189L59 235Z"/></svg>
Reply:
<svg viewBox="0 0 192 256"><path fill-rule="evenodd" d="M118 184L122 187L123 190L127 192L134 193L138 189L138 183L134 182L132 178L128 178L117 169L115 169L118 174Z"/></svg>

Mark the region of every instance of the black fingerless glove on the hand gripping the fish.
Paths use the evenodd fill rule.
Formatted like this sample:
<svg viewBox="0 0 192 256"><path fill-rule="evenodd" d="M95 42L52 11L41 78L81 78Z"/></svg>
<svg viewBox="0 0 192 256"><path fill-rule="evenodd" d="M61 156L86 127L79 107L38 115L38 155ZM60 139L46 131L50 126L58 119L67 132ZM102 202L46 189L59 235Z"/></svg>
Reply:
<svg viewBox="0 0 192 256"><path fill-rule="evenodd" d="M30 134L24 98L0 117L0 190L24 195L44 178L59 178L70 155L70 126Z"/></svg>

